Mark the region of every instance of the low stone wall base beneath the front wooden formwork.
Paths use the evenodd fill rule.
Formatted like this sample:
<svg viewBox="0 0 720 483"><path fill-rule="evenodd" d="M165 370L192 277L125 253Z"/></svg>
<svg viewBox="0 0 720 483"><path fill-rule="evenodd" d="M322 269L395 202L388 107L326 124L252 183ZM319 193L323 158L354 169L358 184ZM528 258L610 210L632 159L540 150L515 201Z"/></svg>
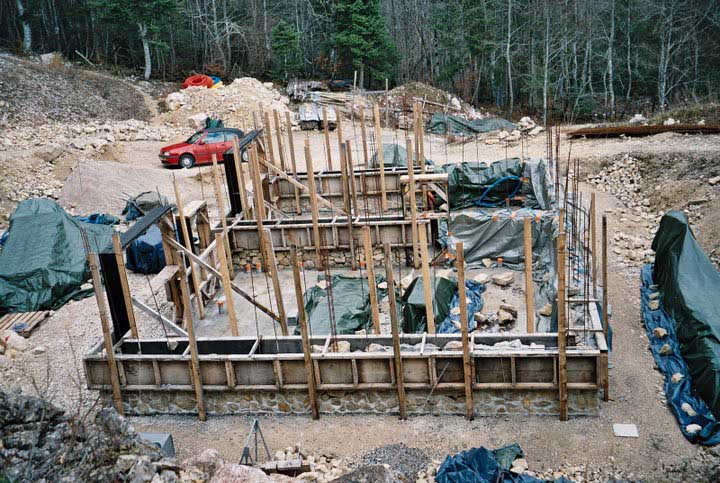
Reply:
<svg viewBox="0 0 720 483"><path fill-rule="evenodd" d="M109 393L105 404L111 405ZM321 414L397 414L394 391L321 391L318 393ZM196 414L192 391L142 391L123 393L125 413L147 416L156 414ZM555 390L482 390L473 393L476 416L557 416L559 401ZM573 390L568 407L573 416L597 416L598 392ZM295 414L310 413L305 391L206 391L205 408L209 414ZM409 415L465 414L465 397L461 392L436 391L429 399L427 391L408 390L406 410Z"/></svg>

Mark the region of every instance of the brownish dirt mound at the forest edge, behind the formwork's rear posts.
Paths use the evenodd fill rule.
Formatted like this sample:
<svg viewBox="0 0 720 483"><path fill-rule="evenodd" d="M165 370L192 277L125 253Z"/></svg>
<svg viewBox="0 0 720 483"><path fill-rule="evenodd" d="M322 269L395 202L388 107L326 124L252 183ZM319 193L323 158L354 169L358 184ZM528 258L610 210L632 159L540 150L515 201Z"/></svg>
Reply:
<svg viewBox="0 0 720 483"><path fill-rule="evenodd" d="M391 109L408 110L412 109L413 98L447 106L448 113L467 119L480 119L485 117L480 111L459 97L422 82L408 82L407 84L392 89L388 92L387 96L382 93L378 96L378 103L380 104L381 110L388 104ZM443 107L432 104L425 105L426 112L434 112L435 110L442 111Z"/></svg>

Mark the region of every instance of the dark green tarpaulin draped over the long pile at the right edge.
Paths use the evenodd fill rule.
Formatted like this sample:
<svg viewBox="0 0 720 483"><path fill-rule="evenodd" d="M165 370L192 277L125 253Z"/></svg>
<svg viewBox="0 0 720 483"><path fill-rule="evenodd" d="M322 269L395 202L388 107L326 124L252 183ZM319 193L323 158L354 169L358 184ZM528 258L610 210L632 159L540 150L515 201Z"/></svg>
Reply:
<svg viewBox="0 0 720 483"><path fill-rule="evenodd" d="M652 249L653 280L665 310L675 319L695 390L720 417L720 273L679 211L663 216Z"/></svg>

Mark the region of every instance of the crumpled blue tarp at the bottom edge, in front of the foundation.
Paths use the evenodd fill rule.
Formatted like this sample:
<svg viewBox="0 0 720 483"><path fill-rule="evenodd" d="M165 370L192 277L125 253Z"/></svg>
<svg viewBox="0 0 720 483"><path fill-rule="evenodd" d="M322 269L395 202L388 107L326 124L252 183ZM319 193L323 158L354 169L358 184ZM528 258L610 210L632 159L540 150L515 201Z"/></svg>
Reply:
<svg viewBox="0 0 720 483"><path fill-rule="evenodd" d="M536 483L542 482L530 475L510 472L512 462L522 458L520 446L511 444L496 450L472 448L448 456L438 469L437 483ZM570 481L565 478L556 480Z"/></svg>

